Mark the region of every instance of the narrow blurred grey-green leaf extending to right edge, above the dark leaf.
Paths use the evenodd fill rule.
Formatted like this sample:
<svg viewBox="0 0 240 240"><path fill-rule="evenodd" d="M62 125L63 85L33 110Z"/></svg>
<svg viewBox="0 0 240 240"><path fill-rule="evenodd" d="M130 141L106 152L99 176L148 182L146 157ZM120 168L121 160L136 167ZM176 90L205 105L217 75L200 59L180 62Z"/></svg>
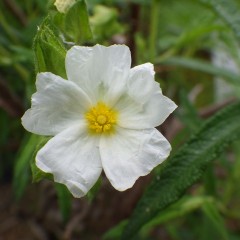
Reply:
<svg viewBox="0 0 240 240"><path fill-rule="evenodd" d="M193 69L196 71L202 71L215 76L223 77L226 81L235 86L240 86L240 75L234 73L231 70L217 67L209 62L202 61L199 59L184 58L184 57L171 57L164 61L162 64L174 65Z"/></svg>

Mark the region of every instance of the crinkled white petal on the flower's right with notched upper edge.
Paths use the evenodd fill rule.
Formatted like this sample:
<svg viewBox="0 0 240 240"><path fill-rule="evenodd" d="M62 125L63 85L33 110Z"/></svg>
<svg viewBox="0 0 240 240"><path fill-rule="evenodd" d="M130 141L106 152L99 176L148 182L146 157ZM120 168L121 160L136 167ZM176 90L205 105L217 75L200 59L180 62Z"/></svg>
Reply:
<svg viewBox="0 0 240 240"><path fill-rule="evenodd" d="M118 124L124 128L144 129L162 124L176 109L176 104L162 94L154 80L151 63L130 70L127 92L114 108L119 112Z"/></svg>

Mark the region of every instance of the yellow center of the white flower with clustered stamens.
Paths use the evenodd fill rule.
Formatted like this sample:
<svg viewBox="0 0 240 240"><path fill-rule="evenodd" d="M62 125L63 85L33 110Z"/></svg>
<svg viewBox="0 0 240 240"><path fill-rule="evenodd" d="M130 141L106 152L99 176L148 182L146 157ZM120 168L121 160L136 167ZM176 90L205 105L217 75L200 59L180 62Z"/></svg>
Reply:
<svg viewBox="0 0 240 240"><path fill-rule="evenodd" d="M102 102L85 114L88 128L93 133L112 132L117 122L117 113Z"/></svg>

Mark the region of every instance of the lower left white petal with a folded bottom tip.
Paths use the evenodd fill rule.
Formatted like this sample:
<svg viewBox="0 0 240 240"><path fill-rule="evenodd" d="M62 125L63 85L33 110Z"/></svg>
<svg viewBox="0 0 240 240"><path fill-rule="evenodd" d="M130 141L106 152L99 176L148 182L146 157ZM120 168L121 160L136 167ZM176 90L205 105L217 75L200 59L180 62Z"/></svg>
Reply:
<svg viewBox="0 0 240 240"><path fill-rule="evenodd" d="M99 139L86 126L74 126L53 137L37 153L36 164L54 180L65 184L75 197L84 196L102 171Z"/></svg>

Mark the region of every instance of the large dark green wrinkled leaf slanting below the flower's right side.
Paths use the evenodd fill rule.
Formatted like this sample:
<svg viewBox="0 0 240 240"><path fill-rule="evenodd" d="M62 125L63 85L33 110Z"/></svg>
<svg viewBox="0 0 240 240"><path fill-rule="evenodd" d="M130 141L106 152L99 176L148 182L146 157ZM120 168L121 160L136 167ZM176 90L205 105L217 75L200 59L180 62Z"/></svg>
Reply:
<svg viewBox="0 0 240 240"><path fill-rule="evenodd" d="M140 199L122 239L132 239L159 211L177 201L210 162L240 135L240 103L219 111L171 157Z"/></svg>

